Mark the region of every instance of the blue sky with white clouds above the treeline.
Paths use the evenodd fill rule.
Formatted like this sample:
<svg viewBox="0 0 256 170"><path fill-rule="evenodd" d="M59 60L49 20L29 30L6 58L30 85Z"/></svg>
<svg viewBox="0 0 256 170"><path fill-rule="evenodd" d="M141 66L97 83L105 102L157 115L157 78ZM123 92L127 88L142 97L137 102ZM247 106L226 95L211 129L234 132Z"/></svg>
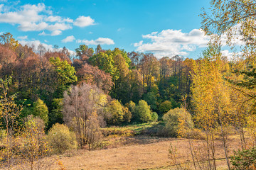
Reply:
<svg viewBox="0 0 256 170"><path fill-rule="evenodd" d="M100 44L197 59L208 42L198 15L209 6L210 0L0 0L0 33L47 49Z"/></svg>

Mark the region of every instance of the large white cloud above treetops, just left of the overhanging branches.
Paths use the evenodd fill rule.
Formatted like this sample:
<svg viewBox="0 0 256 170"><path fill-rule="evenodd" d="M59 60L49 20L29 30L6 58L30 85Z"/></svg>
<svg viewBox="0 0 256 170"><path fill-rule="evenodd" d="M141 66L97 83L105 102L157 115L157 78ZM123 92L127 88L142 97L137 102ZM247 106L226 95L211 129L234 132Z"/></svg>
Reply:
<svg viewBox="0 0 256 170"><path fill-rule="evenodd" d="M187 56L188 52L196 50L197 47L206 47L209 40L199 29L193 29L189 33L183 33L181 30L162 30L160 33L142 35L142 38L149 39L149 42L141 40L134 43L134 47L140 52L153 52L156 57Z"/></svg>

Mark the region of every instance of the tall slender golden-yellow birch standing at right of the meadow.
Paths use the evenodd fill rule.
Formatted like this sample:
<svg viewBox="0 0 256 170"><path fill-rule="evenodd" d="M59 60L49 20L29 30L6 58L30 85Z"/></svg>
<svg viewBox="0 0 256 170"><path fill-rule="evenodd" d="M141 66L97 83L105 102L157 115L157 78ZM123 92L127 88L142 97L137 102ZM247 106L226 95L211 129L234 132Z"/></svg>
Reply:
<svg viewBox="0 0 256 170"><path fill-rule="evenodd" d="M228 86L226 86L226 82L223 79L223 64L218 45L209 45L208 49L203 52L203 59L195 64L192 75L192 102L196 111L195 119L197 125L206 130L208 164L211 166L211 155L214 169L215 138L213 131L218 128L223 137L225 157L230 169L227 136L225 135L225 126L230 120L230 96Z"/></svg>

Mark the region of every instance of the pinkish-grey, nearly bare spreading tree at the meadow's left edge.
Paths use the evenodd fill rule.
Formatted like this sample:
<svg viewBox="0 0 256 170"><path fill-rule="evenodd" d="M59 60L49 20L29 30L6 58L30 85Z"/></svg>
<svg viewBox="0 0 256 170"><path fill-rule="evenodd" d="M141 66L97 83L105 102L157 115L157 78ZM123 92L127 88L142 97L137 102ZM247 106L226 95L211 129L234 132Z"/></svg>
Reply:
<svg viewBox="0 0 256 170"><path fill-rule="evenodd" d="M100 137L99 113L105 106L106 96L96 86L82 84L71 86L63 98L63 120L74 128L80 147L89 144L93 147Z"/></svg>

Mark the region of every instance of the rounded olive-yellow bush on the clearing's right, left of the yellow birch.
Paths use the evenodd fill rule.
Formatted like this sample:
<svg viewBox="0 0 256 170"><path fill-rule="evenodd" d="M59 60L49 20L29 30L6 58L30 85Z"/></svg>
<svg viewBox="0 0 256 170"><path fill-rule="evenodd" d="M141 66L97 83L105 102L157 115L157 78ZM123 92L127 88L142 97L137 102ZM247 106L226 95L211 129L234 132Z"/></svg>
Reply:
<svg viewBox="0 0 256 170"><path fill-rule="evenodd" d="M184 108L175 108L167 112L163 117L166 136L186 137L189 129L193 128L191 114Z"/></svg>

